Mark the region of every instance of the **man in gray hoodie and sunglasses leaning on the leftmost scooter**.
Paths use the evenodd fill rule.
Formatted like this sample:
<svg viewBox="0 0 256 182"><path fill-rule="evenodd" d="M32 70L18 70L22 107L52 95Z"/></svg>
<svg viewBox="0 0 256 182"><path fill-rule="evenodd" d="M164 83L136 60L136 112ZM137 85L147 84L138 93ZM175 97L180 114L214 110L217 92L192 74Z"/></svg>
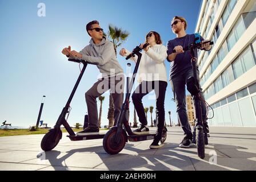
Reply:
<svg viewBox="0 0 256 182"><path fill-rule="evenodd" d="M102 73L102 78L85 93L88 110L89 126L78 132L77 135L98 134L98 110L96 98L110 89L114 100L114 120L118 121L123 102L123 69L117 61L113 43L103 36L103 29L97 20L93 20L86 25L86 31L91 36L90 44L82 51L71 51L71 47L64 48L62 53L71 59L82 59L89 63L98 63L97 67Z"/></svg>

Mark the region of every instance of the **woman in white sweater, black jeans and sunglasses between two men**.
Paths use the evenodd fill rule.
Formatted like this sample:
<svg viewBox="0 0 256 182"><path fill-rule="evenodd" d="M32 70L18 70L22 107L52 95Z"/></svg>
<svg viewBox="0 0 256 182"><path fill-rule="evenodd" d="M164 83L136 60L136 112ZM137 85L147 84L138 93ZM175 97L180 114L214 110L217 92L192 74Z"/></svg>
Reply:
<svg viewBox="0 0 256 182"><path fill-rule="evenodd" d="M165 125L165 92L167 87L165 59L167 57L167 48L162 45L161 36L155 31L150 31L146 35L145 43L148 43L149 46L147 46L142 52L138 75L139 85L131 96L139 117L139 122L141 122L141 127L134 130L133 133L149 133L142 98L154 90L157 102L158 130L150 148L160 148L163 146L160 140L162 138L163 126ZM142 48L143 45L144 44L141 44L140 47ZM119 54L121 56L128 56L130 52L125 48L122 48ZM131 59L136 61L137 56L132 57Z"/></svg>

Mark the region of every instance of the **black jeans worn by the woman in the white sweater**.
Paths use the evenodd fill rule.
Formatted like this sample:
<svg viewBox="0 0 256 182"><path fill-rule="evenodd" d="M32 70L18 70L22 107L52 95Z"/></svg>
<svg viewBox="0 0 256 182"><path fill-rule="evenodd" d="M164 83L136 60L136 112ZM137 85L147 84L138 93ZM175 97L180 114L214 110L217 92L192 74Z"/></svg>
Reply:
<svg viewBox="0 0 256 182"><path fill-rule="evenodd" d="M139 122L142 125L147 125L147 119L145 115L144 106L142 104L142 98L146 94L155 90L156 105L157 105L157 136L155 138L162 138L163 126L165 125L165 92L166 92L167 82L166 81L142 81L141 84L134 90L131 98L133 99L133 104L135 110L137 111Z"/></svg>

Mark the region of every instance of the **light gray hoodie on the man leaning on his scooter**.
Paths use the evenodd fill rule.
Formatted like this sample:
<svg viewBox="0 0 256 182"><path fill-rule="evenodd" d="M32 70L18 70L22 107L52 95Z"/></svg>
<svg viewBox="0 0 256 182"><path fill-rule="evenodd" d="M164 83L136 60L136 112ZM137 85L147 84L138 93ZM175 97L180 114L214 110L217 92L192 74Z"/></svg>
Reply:
<svg viewBox="0 0 256 182"><path fill-rule="evenodd" d="M103 77L115 76L123 73L121 65L115 56L113 43L103 36L102 42L95 44L93 39L90 44L82 49L79 53L82 54L82 59L89 63L99 63L97 67ZM110 70L111 69L111 70Z"/></svg>

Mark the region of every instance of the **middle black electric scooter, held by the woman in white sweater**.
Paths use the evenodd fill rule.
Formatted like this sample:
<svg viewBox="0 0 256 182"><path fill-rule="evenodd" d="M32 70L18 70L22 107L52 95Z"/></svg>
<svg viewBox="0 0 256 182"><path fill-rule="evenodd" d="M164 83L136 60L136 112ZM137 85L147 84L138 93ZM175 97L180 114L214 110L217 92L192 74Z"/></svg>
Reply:
<svg viewBox="0 0 256 182"><path fill-rule="evenodd" d="M143 48L149 46L149 44L145 44ZM133 72L133 76L130 80L129 84L127 82L127 91L125 101L123 102L121 113L119 115L119 119L117 122L117 126L111 127L109 131L105 134L103 138L103 147L108 154L118 154L120 151L123 150L125 147L125 143L128 142L139 142L143 140L151 140L154 139L156 133L151 134L142 134L142 135L135 135L129 126L129 98L131 95L131 89L133 88L135 76L138 71L139 63L141 61L142 54L140 53L143 48L137 46L133 49L133 52L129 56L126 57L126 60L130 59L130 57L134 57L135 55L138 56L137 63L135 65L135 69ZM167 129L163 127L162 139L161 142L165 142L167 137Z"/></svg>

